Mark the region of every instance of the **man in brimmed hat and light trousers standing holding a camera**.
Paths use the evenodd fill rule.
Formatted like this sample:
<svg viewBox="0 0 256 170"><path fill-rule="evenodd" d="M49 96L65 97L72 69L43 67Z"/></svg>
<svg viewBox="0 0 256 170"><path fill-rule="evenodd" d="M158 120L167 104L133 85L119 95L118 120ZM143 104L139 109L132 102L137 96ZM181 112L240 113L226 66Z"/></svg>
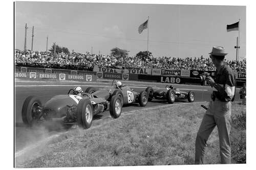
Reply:
<svg viewBox="0 0 256 170"><path fill-rule="evenodd" d="M231 163L231 101L234 100L236 78L233 70L224 64L224 58L227 53L221 46L212 47L209 53L210 58L217 68L216 79L210 76L206 81L212 86L212 101L204 114L201 126L196 138L195 164L204 163L206 142L212 130L217 126L220 141L221 163Z"/></svg>

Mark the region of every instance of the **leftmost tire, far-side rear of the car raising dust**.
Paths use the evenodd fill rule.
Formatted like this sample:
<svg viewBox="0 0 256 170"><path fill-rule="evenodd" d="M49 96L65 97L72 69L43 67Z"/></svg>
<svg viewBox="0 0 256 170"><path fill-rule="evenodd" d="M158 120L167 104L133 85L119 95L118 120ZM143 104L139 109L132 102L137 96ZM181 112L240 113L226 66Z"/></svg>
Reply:
<svg viewBox="0 0 256 170"><path fill-rule="evenodd" d="M36 96L28 96L22 106L22 120L25 125L32 126L35 123L36 109L42 107L41 101Z"/></svg>

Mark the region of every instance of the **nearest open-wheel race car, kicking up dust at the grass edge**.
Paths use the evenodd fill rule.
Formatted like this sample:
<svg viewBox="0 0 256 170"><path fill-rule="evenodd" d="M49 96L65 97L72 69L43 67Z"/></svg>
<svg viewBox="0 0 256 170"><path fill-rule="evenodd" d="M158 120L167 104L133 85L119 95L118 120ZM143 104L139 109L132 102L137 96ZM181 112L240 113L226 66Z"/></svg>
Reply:
<svg viewBox="0 0 256 170"><path fill-rule="evenodd" d="M113 118L118 118L122 111L122 101L118 95L113 95L110 101L94 98L89 93L77 95L74 89L68 94L55 95L42 106L36 96L28 96L22 107L22 120L32 126L45 121L60 120L63 124L71 124L88 129L92 125L93 116L110 110Z"/></svg>

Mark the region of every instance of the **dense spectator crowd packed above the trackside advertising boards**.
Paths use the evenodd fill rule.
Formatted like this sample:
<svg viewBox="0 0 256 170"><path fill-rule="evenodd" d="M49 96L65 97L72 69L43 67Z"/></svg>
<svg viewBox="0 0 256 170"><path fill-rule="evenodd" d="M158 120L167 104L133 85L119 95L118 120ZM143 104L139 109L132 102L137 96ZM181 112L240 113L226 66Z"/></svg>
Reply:
<svg viewBox="0 0 256 170"><path fill-rule="evenodd" d="M246 60L229 61L225 60L235 71L246 71ZM215 70L211 59L204 58L176 58L176 57L125 57L118 58L113 55L71 53L56 54L50 52L23 52L15 51L15 64L17 66L93 70L95 65L111 68L164 68L164 69L195 69L195 70Z"/></svg>

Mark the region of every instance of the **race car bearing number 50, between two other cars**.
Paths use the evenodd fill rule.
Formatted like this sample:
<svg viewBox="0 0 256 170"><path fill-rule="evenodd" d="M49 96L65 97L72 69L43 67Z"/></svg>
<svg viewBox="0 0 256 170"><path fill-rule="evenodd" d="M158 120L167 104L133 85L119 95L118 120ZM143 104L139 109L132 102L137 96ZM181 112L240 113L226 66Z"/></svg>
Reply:
<svg viewBox="0 0 256 170"><path fill-rule="evenodd" d="M131 103L139 103L144 107L147 104L147 92L136 92L129 86L122 85L120 81L113 80L111 86L106 86L100 89L88 87L86 93L93 94L94 98L104 98L110 101L113 96L118 95L122 100L122 105Z"/></svg>

